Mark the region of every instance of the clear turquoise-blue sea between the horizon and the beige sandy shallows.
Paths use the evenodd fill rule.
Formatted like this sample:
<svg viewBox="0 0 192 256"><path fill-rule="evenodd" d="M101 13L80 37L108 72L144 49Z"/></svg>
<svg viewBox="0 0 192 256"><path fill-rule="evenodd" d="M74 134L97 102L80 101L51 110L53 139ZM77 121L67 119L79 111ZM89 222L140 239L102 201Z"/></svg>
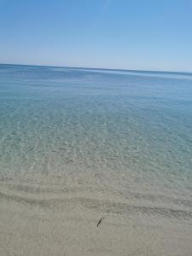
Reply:
<svg viewBox="0 0 192 256"><path fill-rule="evenodd" d="M0 180L192 195L192 73L0 65Z"/></svg>

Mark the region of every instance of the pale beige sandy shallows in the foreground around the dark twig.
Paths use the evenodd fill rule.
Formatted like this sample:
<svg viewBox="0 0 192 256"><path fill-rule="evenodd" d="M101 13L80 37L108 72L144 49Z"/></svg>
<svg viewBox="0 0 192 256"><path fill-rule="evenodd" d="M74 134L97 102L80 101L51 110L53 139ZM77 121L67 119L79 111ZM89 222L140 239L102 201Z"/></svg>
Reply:
<svg viewBox="0 0 192 256"><path fill-rule="evenodd" d="M189 201L163 194L6 182L0 255L191 255L191 220Z"/></svg>

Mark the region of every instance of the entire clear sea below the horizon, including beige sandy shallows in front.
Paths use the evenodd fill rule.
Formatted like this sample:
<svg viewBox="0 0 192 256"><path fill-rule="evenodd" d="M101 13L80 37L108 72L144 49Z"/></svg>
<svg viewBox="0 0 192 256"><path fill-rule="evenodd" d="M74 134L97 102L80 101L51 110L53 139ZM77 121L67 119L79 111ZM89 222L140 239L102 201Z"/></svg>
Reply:
<svg viewBox="0 0 192 256"><path fill-rule="evenodd" d="M191 255L191 96L190 73L0 65L0 255Z"/></svg>

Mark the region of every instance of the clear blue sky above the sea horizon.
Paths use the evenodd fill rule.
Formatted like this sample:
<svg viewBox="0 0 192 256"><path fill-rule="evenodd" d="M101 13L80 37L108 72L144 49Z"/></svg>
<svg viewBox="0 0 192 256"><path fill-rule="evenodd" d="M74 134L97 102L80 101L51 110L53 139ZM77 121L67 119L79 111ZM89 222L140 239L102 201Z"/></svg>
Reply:
<svg viewBox="0 0 192 256"><path fill-rule="evenodd" d="M0 0L0 63L192 72L192 0Z"/></svg>

